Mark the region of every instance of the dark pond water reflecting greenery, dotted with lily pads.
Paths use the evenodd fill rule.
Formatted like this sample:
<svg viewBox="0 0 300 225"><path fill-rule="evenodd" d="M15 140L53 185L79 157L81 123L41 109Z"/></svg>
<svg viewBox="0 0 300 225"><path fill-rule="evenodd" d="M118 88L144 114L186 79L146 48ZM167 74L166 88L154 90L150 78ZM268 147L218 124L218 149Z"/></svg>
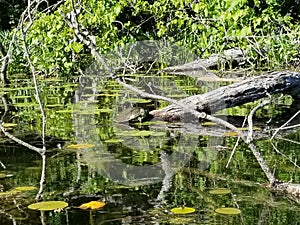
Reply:
<svg viewBox="0 0 300 225"><path fill-rule="evenodd" d="M228 83L201 81L166 74L128 75L124 79L149 93L181 99ZM152 110L165 102L140 99L114 81L81 77L78 82L40 79L41 99L47 114L47 171L43 200L65 201L60 212L28 209L39 188L42 160L37 153L0 139L0 224L300 224L299 204L289 196L271 193L267 179L247 145L236 134L208 122L167 123L147 118L117 123L129 107ZM11 103L4 120L9 132L41 147L41 114L30 79L16 78L2 88ZM289 96L274 96L274 103L256 113L255 137L263 157L284 181L300 182L300 130L274 128L297 111ZM258 102L215 115L242 127ZM298 107L299 108L299 107ZM123 115L124 116L124 115ZM299 124L299 117L291 125ZM279 152L275 152L272 144ZM291 162L292 161L292 162ZM5 166L5 168L4 168ZM17 187L33 190L13 191ZM36 189L34 189L35 187ZM26 188L24 188L26 189ZM225 190L224 194L212 190ZM99 210L82 210L90 201L105 202ZM171 209L191 207L195 212L174 214ZM217 213L222 207L241 213Z"/></svg>

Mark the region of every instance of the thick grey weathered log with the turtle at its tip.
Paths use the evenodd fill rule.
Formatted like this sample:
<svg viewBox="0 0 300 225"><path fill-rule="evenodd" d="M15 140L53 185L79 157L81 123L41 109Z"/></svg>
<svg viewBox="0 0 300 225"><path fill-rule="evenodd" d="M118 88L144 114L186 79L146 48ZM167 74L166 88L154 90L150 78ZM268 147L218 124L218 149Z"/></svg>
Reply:
<svg viewBox="0 0 300 225"><path fill-rule="evenodd" d="M224 108L239 106L270 94L283 93L298 97L300 73L283 71L266 73L244 81L220 87L202 95L194 95L180 100L181 104L193 106L200 112L214 113ZM167 121L178 120L184 111L178 105L170 105L150 114Z"/></svg>

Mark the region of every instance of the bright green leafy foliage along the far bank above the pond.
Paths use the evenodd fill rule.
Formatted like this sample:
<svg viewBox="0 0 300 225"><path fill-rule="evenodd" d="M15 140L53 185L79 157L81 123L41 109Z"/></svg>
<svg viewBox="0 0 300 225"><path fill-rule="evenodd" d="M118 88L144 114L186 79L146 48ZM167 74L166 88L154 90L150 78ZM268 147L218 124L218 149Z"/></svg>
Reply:
<svg viewBox="0 0 300 225"><path fill-rule="evenodd" d="M300 26L289 2L84 0L81 4L75 6L83 9L78 22L96 37L101 53L128 42L163 39L200 57L239 47L247 50L256 67L282 67L298 60ZM58 10L68 14L71 1ZM89 66L91 56L58 10L36 17L28 44L39 71L69 77ZM22 51L17 55L12 67L26 67Z"/></svg>

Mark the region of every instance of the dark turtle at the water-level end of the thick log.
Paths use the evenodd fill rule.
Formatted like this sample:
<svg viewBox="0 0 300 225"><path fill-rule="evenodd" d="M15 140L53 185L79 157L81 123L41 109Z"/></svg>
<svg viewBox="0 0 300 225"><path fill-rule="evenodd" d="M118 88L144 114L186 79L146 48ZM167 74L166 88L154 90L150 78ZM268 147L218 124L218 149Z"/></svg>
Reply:
<svg viewBox="0 0 300 225"><path fill-rule="evenodd" d="M118 123L141 122L147 116L146 110L141 107L130 107L124 109L115 119Z"/></svg>

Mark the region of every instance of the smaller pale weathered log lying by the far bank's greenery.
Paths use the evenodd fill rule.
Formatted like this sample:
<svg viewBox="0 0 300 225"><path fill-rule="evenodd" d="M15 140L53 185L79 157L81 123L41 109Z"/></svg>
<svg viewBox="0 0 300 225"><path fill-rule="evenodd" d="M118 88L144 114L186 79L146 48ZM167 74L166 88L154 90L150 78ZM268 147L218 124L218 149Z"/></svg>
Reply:
<svg viewBox="0 0 300 225"><path fill-rule="evenodd" d="M199 59L184 65L172 66L164 68L162 71L172 74L190 75L191 73L206 72L207 70L215 70L222 65L229 64L235 67L244 64L246 55L240 49L228 49L224 54L213 54L207 59Z"/></svg>

